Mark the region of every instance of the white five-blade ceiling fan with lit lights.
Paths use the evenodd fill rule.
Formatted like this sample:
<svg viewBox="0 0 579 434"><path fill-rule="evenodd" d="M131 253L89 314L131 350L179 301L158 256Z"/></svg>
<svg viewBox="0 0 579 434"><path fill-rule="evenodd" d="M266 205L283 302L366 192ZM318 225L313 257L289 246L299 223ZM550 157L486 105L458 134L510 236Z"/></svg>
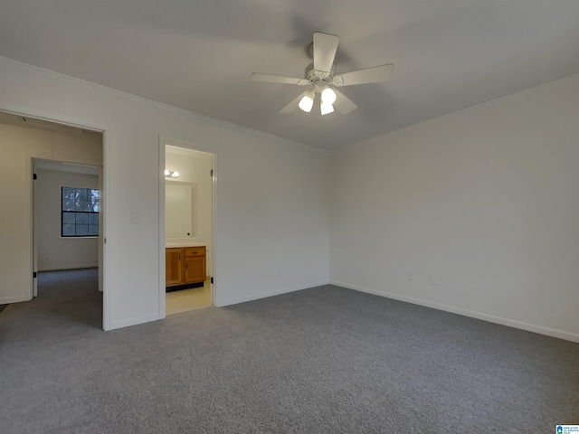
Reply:
<svg viewBox="0 0 579 434"><path fill-rule="evenodd" d="M348 99L346 95L335 88L388 80L394 71L394 63L335 75L332 66L334 64L334 58L336 57L339 41L340 38L335 34L314 33L314 42L312 43L314 63L308 67L308 71L306 71L305 78L303 79L253 72L251 80L310 87L300 94L298 98L289 102L286 107L280 110L280 113L291 113L298 107L306 112L311 111L316 94L319 93L319 109L322 115L332 113L334 106L336 106L337 111L346 115L356 109L357 106L352 100Z"/></svg>

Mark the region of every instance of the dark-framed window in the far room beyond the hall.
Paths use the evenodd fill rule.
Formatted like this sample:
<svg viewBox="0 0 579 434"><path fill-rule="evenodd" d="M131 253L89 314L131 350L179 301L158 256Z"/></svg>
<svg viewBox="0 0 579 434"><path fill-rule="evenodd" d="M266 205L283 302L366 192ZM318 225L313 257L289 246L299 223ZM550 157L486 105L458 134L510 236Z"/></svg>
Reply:
<svg viewBox="0 0 579 434"><path fill-rule="evenodd" d="M61 236L99 236L99 190L62 187Z"/></svg>

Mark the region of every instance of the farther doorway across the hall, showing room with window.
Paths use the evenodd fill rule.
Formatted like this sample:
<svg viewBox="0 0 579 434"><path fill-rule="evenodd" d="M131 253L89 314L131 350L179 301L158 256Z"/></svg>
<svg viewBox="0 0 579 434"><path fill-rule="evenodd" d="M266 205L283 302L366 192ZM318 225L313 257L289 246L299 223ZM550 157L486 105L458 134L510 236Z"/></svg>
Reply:
<svg viewBox="0 0 579 434"><path fill-rule="evenodd" d="M102 327L99 167L44 159L33 166L33 297Z"/></svg>

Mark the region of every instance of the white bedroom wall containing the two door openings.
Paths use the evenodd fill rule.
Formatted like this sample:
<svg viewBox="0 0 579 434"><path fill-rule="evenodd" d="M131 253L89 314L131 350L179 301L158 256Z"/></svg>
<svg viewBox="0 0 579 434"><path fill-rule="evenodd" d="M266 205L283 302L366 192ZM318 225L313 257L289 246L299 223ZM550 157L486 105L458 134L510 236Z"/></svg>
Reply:
<svg viewBox="0 0 579 434"><path fill-rule="evenodd" d="M159 135L216 153L217 306L327 282L326 152L4 58L0 95L0 109L105 131L106 329L165 314ZM10 264L26 262L26 251L25 243L11 251ZM12 277L4 254L0 263L12 293L27 293L29 282Z"/></svg>

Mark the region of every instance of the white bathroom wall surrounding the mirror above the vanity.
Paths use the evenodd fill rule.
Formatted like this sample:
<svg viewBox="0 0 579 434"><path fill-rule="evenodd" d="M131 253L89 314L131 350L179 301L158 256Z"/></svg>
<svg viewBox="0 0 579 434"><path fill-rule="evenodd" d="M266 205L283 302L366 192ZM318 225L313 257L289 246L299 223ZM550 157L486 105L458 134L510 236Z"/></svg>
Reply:
<svg viewBox="0 0 579 434"><path fill-rule="evenodd" d="M167 242L195 241L203 242L207 249L207 276L212 276L213 256L213 178L214 157L211 154L195 152L189 149L167 147L165 155L167 169L177 171L176 179L166 178L172 182L197 184L197 234L191 239L170 239Z"/></svg>

